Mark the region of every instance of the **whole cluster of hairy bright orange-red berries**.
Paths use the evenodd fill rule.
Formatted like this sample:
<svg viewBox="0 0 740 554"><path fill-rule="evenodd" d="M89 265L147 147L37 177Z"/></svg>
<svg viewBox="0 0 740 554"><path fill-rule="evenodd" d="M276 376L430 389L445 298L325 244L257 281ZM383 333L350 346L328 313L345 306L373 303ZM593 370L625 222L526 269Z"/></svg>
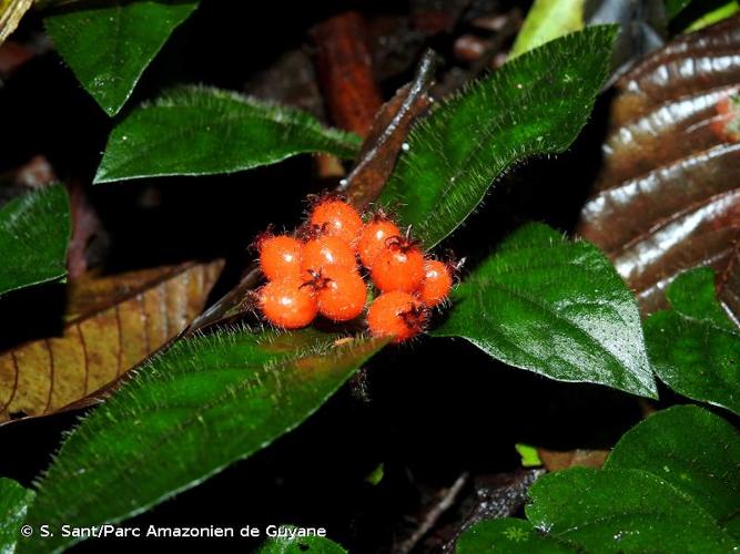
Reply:
<svg viewBox="0 0 740 554"><path fill-rule="evenodd" d="M382 211L364 223L346 202L324 197L297 236L266 233L256 242L268 280L259 306L278 327L305 327L320 314L339 322L359 317L368 294L357 258L381 293L367 310L369 331L396 342L424 330L453 286L450 267L425 257Z"/></svg>

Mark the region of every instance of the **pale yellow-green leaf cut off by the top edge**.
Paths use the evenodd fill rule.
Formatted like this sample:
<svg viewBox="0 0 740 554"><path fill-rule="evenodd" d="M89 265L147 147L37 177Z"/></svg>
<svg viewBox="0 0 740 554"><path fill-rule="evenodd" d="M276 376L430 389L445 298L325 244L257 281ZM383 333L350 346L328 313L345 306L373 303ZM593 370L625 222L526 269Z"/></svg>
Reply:
<svg viewBox="0 0 740 554"><path fill-rule="evenodd" d="M510 57L584 28L585 0L535 0L521 25Z"/></svg>

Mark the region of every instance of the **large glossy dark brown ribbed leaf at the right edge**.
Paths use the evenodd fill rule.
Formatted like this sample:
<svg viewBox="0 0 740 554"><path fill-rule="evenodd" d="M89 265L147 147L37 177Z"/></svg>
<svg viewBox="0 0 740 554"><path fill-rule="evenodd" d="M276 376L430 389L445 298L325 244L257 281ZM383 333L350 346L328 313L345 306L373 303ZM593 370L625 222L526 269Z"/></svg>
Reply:
<svg viewBox="0 0 740 554"><path fill-rule="evenodd" d="M604 167L578 233L643 314L679 273L711 266L740 321L740 17L681 35L617 82Z"/></svg>

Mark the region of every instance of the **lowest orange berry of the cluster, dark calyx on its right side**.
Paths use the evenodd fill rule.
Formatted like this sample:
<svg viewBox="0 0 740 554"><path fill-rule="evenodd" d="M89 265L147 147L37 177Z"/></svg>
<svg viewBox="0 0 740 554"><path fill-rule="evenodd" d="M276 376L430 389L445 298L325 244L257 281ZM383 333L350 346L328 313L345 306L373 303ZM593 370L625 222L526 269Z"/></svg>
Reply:
<svg viewBox="0 0 740 554"><path fill-rule="evenodd" d="M424 330L427 310L422 301L407 293L393 291L378 296L367 311L367 326L376 337L394 337L403 342Z"/></svg>

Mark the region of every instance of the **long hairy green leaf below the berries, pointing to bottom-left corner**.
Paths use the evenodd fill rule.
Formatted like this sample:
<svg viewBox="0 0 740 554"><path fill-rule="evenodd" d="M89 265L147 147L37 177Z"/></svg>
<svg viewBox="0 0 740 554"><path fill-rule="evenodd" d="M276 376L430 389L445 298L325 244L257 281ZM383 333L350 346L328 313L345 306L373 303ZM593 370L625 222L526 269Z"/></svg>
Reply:
<svg viewBox="0 0 740 554"><path fill-rule="evenodd" d="M120 522L265 448L384 345L337 338L232 330L176 342L69 434L28 522ZM22 552L58 552L70 541L57 533Z"/></svg>

